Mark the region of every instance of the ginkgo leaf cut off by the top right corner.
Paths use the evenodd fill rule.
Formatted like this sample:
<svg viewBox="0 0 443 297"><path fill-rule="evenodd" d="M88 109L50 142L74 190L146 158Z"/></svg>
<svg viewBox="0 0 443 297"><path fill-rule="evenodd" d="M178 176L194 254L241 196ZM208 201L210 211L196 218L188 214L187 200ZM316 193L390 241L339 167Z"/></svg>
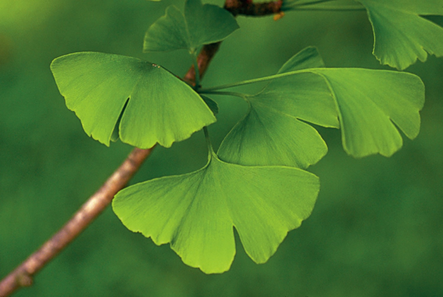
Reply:
<svg viewBox="0 0 443 297"><path fill-rule="evenodd" d="M403 70L424 62L427 53L443 56L443 28L420 15L443 15L442 0L357 0L374 31L373 54L382 64Z"/></svg>

